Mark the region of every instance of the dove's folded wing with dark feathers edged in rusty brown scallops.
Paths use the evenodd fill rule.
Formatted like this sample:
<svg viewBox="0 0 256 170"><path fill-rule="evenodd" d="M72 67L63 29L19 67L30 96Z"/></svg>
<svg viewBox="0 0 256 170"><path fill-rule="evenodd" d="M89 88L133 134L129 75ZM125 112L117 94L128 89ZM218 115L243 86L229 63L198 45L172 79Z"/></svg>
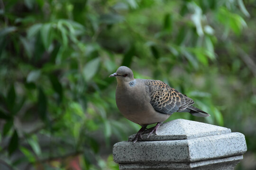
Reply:
<svg viewBox="0 0 256 170"><path fill-rule="evenodd" d="M173 114L194 104L192 99L160 80L145 80L144 83L150 95L150 103L156 111Z"/></svg>

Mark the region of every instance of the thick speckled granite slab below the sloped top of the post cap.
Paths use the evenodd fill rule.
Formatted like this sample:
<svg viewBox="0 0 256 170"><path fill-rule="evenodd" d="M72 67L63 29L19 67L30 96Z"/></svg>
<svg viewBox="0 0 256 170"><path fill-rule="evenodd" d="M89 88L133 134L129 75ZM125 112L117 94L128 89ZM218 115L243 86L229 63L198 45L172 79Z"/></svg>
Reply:
<svg viewBox="0 0 256 170"><path fill-rule="evenodd" d="M119 142L113 146L114 161L193 162L242 155L247 150L245 136L229 133L186 140Z"/></svg>

